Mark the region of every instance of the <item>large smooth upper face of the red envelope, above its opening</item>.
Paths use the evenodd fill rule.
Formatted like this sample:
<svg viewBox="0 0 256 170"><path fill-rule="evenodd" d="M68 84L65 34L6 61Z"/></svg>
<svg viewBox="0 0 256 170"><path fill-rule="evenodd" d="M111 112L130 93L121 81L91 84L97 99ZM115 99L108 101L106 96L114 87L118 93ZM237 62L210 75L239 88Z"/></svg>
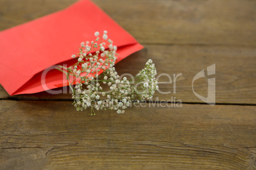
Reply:
<svg viewBox="0 0 256 170"><path fill-rule="evenodd" d="M0 32L0 63L20 75L34 75L78 53L80 42L94 40L95 31L108 30L117 46L137 41L110 16L88 0L65 10Z"/></svg>

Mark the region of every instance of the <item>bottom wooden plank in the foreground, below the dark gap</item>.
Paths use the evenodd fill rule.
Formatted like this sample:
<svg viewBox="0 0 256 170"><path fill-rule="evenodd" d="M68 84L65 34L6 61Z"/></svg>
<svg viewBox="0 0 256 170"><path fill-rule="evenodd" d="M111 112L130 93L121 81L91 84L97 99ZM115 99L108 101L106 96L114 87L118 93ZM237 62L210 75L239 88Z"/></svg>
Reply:
<svg viewBox="0 0 256 170"><path fill-rule="evenodd" d="M0 169L255 169L255 111L143 103L90 116L71 101L2 100Z"/></svg>

